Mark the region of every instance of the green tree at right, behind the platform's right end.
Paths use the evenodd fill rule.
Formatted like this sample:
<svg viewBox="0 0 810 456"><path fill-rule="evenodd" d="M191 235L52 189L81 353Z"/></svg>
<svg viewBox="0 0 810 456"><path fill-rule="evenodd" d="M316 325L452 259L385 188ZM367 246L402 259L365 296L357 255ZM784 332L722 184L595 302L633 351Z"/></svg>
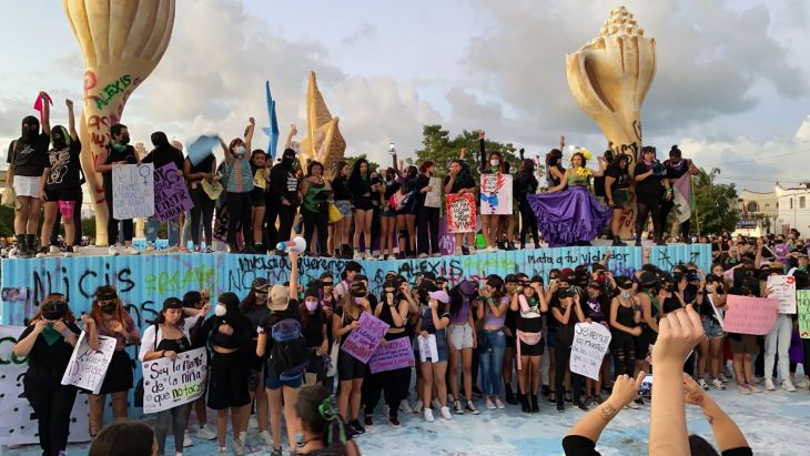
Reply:
<svg viewBox="0 0 810 456"><path fill-rule="evenodd" d="M698 210L701 234L719 234L723 230L735 231L740 220L735 202L738 199L735 184L716 184L715 178L720 174L718 168L710 172L700 169L700 174L692 178L695 202ZM697 231L692 225L692 231Z"/></svg>

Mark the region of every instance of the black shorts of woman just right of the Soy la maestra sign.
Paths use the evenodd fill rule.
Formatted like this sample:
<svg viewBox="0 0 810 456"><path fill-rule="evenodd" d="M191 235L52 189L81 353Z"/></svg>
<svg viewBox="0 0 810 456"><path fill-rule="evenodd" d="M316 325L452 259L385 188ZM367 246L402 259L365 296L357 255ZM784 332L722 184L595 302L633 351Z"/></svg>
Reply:
<svg viewBox="0 0 810 456"><path fill-rule="evenodd" d="M247 405L251 402L249 375L250 366L244 354L214 352L209 372L209 408L222 411Z"/></svg>

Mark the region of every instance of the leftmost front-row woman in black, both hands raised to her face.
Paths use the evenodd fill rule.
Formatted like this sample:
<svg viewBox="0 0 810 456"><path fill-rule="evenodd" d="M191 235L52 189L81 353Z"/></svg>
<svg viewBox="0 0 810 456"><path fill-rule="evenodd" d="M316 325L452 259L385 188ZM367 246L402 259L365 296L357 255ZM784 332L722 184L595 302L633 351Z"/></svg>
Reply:
<svg viewBox="0 0 810 456"><path fill-rule="evenodd" d="M93 320L87 316L82 320L88 343L98 349ZM39 312L14 345L14 356L28 357L23 392L37 414L43 456L64 455L68 447L70 413L77 387L62 385L61 381L80 333L64 295L51 293L44 297Z"/></svg>

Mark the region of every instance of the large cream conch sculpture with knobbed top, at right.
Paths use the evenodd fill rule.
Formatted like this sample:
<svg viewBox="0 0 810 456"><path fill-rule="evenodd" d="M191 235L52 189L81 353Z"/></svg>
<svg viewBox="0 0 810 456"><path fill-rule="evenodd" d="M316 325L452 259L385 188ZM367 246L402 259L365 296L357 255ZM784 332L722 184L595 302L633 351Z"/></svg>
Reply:
<svg viewBox="0 0 810 456"><path fill-rule="evenodd" d="M625 7L610 10L599 36L566 55L568 87L614 152L641 152L641 103L656 75L656 40L644 36Z"/></svg>

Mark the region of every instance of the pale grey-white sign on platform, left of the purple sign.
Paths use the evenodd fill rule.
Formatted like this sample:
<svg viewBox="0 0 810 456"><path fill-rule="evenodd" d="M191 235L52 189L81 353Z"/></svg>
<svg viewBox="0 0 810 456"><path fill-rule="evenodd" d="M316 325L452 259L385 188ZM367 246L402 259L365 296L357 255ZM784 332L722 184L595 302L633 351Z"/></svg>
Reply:
<svg viewBox="0 0 810 456"><path fill-rule="evenodd" d="M112 166L112 216L115 220L148 217L154 214L154 165Z"/></svg>

